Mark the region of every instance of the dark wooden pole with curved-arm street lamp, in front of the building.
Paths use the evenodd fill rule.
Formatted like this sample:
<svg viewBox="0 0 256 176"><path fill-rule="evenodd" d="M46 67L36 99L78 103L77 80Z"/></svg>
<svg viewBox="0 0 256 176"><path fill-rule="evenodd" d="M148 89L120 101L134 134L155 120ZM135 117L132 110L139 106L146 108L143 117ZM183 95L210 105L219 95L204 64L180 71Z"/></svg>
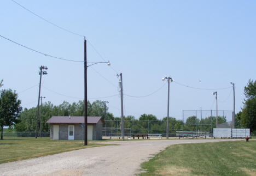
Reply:
<svg viewBox="0 0 256 176"><path fill-rule="evenodd" d="M107 63L108 62L96 62L91 65ZM91 65L87 65L87 55L86 55L86 39L84 38L84 145L87 145L87 68Z"/></svg>

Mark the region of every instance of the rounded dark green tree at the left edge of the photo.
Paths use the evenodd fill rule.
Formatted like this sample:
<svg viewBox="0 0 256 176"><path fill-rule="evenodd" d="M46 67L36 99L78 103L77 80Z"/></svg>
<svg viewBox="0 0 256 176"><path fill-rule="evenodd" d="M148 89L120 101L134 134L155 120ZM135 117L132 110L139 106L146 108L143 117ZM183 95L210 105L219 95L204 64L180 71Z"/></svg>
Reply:
<svg viewBox="0 0 256 176"><path fill-rule="evenodd" d="M0 125L1 139L3 139L3 126L10 126L18 122L18 117L22 111L21 100L18 100L18 94L11 89L3 89L0 92Z"/></svg>

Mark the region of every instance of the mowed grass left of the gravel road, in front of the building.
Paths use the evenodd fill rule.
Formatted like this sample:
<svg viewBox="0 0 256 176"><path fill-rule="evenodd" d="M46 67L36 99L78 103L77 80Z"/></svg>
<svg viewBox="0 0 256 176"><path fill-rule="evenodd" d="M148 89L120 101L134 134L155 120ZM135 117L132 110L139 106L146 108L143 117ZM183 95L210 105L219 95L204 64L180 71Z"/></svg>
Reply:
<svg viewBox="0 0 256 176"><path fill-rule="evenodd" d="M84 146L82 141L54 141L49 137L37 139L34 137L4 137L0 140L0 163L105 145L109 144L89 142L87 146Z"/></svg>

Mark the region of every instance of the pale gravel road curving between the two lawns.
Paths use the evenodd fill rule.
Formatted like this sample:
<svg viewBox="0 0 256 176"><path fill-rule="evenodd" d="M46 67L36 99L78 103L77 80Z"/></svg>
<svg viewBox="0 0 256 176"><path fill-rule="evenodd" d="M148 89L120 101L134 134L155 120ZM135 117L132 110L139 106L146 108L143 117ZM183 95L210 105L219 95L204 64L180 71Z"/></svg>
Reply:
<svg viewBox="0 0 256 176"><path fill-rule="evenodd" d="M120 145L88 148L0 165L0 175L134 175L139 165L168 145L234 141L183 139L108 142Z"/></svg>

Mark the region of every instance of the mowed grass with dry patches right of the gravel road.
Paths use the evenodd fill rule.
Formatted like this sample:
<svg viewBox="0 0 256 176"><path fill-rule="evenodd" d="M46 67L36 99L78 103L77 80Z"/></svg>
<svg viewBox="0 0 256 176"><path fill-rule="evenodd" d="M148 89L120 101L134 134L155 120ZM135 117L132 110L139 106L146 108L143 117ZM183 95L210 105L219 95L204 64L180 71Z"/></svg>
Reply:
<svg viewBox="0 0 256 176"><path fill-rule="evenodd" d="M171 145L141 166L141 175L256 175L256 140Z"/></svg>

